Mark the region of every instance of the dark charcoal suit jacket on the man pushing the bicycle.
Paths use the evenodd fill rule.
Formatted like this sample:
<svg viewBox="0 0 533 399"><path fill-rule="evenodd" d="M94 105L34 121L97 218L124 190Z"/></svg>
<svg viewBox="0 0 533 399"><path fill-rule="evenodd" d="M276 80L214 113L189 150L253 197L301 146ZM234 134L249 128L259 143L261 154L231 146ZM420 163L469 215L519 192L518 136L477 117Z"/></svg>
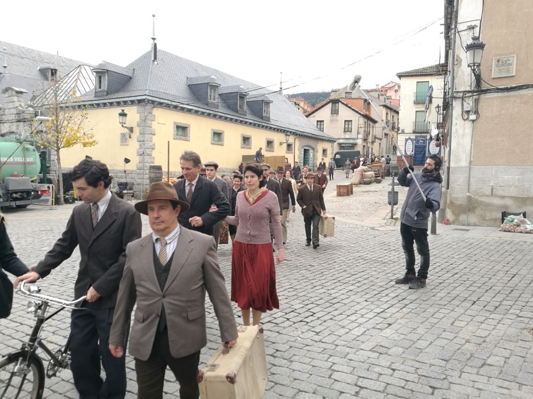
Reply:
<svg viewBox="0 0 533 399"><path fill-rule="evenodd" d="M79 298L92 286L101 295L96 301L101 309L115 307L118 283L126 261L126 245L141 236L141 217L132 204L112 195L106 212L93 230L91 204L72 210L60 239L35 271L42 278L67 260L79 246L78 278L74 296Z"/></svg>

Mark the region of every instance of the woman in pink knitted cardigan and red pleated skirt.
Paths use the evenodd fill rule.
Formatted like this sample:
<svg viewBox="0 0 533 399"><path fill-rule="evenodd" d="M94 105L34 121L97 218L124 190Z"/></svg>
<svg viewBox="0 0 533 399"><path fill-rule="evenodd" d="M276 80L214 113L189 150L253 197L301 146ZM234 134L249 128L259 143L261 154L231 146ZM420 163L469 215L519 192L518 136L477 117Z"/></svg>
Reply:
<svg viewBox="0 0 533 399"><path fill-rule="evenodd" d="M226 217L224 221L238 226L231 253L231 300L241 309L245 326L250 325L252 309L255 326L267 310L279 309L269 219L276 237L277 264L285 260L285 252L278 199L266 189L261 167L246 165L244 181L246 190L237 194L235 216Z"/></svg>

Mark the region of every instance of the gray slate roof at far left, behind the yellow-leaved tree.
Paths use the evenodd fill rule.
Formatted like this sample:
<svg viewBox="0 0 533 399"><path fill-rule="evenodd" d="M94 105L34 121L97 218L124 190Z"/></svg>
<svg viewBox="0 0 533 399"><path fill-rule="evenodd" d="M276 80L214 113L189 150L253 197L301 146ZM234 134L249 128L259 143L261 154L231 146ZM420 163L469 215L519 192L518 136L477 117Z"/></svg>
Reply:
<svg viewBox="0 0 533 399"><path fill-rule="evenodd" d="M50 65L57 69L58 76L62 77L78 65L86 64L60 55L0 41L2 63L4 54L6 55L7 75L0 76L0 89L13 86L27 90L28 93L22 97L25 102L30 101L31 97L41 93L49 85L49 81L39 72L39 66ZM4 105L4 99L4 96L0 96L0 105Z"/></svg>

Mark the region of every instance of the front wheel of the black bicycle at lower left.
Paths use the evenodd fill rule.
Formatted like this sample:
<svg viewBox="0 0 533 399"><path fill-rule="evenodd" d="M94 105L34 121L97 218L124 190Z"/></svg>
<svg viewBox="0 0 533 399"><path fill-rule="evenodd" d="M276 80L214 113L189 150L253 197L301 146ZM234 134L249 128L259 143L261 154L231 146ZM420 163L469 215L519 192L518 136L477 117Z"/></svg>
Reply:
<svg viewBox="0 0 533 399"><path fill-rule="evenodd" d="M0 399L41 399L44 390L44 367L41 359L23 352L0 361Z"/></svg>

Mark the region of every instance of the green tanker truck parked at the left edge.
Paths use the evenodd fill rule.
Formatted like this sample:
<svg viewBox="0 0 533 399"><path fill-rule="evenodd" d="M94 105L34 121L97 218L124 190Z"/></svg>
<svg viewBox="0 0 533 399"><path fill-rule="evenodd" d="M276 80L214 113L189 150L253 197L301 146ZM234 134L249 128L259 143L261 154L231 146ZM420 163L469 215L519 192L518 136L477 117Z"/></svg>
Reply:
<svg viewBox="0 0 533 399"><path fill-rule="evenodd" d="M35 184L41 171L32 143L0 137L0 206L25 208L40 197Z"/></svg>

